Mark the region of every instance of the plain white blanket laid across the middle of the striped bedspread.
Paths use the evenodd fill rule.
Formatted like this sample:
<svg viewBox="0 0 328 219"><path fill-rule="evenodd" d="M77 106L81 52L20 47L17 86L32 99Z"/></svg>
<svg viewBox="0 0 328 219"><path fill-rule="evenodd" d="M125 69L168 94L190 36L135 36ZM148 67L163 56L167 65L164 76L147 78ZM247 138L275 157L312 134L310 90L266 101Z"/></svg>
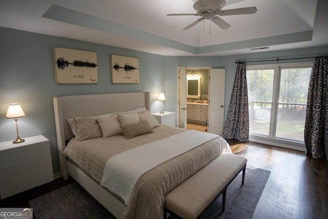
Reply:
<svg viewBox="0 0 328 219"><path fill-rule="evenodd" d="M118 194L128 205L142 174L216 137L218 135L189 130L117 154L107 161L101 186Z"/></svg>

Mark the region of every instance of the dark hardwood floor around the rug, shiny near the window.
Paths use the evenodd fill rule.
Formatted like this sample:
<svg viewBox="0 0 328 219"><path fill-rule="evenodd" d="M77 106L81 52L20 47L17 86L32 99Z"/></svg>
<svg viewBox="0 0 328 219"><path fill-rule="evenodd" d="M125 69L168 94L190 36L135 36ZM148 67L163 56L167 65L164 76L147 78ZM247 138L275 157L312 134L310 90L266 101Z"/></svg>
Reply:
<svg viewBox="0 0 328 219"><path fill-rule="evenodd" d="M235 154L248 158L248 166L271 171L253 218L327 218L328 161L302 151L253 142L228 141ZM245 184L252 182L245 176ZM28 201L74 180L53 182L0 201L0 207L29 207ZM242 215L241 215L242 217Z"/></svg>

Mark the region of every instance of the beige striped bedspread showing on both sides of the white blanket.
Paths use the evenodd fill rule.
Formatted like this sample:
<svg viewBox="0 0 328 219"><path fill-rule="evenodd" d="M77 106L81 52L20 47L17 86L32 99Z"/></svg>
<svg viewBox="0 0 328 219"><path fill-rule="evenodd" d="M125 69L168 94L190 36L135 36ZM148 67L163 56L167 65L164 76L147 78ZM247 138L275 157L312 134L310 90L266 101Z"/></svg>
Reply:
<svg viewBox="0 0 328 219"><path fill-rule="evenodd" d="M161 125L153 133L126 139L124 135L79 141L73 138L64 154L99 183L107 161L124 151L159 141L185 129ZM222 153L231 153L229 144L220 136L143 174L137 181L130 201L123 213L125 218L162 218L165 195L188 177L213 161ZM117 194L112 192L116 197ZM121 200L121 198L119 198ZM122 201L123 202L123 201Z"/></svg>

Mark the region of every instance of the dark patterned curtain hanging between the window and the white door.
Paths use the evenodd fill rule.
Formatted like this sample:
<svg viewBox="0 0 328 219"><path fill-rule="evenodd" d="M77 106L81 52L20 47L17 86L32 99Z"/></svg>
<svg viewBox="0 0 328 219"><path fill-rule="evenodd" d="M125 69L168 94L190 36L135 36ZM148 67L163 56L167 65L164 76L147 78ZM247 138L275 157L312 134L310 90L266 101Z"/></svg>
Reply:
<svg viewBox="0 0 328 219"><path fill-rule="evenodd" d="M245 63L238 63L222 137L226 139L236 139L240 142L248 142L250 121L247 92Z"/></svg>

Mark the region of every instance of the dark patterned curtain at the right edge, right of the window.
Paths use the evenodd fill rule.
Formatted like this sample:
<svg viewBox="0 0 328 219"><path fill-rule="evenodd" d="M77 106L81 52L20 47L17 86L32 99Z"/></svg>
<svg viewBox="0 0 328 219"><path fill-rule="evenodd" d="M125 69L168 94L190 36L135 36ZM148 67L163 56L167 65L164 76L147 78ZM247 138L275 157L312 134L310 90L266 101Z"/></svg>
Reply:
<svg viewBox="0 0 328 219"><path fill-rule="evenodd" d="M310 77L304 128L306 154L328 159L328 56L316 57Z"/></svg>

